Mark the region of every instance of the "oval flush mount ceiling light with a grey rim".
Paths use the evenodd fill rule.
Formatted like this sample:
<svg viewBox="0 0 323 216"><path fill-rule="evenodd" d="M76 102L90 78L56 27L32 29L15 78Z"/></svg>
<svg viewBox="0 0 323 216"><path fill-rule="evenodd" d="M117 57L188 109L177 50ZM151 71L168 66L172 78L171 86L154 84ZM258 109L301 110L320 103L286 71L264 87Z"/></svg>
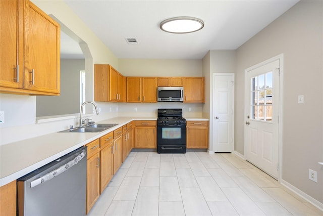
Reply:
<svg viewBox="0 0 323 216"><path fill-rule="evenodd" d="M160 23L160 29L170 33L190 33L204 27L204 22L195 17L174 17Z"/></svg>

